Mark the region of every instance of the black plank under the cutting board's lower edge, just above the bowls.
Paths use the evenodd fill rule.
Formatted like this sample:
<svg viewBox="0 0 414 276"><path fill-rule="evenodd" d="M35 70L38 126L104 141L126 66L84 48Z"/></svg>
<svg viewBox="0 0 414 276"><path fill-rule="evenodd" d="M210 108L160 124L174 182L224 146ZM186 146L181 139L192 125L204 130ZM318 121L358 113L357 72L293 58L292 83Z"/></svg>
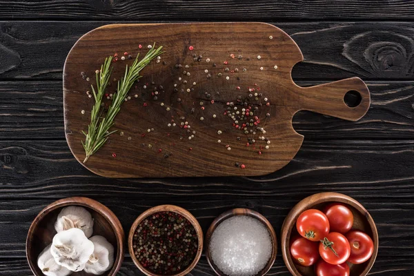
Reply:
<svg viewBox="0 0 414 276"><path fill-rule="evenodd" d="M336 190L364 204L386 197L390 198L386 202L396 203L397 198L413 197L414 187L409 185L414 179L413 152L414 140L305 140L290 164L264 177L106 179L78 164L66 141L1 141L0 199L71 195L156 196L160 201L186 196L190 200L196 196L281 199L285 195L302 199Z"/></svg>

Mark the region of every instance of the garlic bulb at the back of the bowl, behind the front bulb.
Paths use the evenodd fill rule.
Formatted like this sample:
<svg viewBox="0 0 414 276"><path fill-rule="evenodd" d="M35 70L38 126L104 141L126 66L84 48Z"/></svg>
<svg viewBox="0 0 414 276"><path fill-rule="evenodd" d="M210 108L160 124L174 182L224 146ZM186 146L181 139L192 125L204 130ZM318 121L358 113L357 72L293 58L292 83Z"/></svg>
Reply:
<svg viewBox="0 0 414 276"><path fill-rule="evenodd" d="M86 237L92 236L92 215L81 206L68 206L63 208L57 216L55 230L59 233L70 228L79 228L85 233Z"/></svg>

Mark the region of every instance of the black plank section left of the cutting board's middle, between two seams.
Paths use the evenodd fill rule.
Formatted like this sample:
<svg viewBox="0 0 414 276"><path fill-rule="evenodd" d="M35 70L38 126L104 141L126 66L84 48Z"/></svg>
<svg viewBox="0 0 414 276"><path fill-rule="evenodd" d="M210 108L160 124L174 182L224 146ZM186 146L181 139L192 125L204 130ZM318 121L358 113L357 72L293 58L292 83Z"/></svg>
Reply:
<svg viewBox="0 0 414 276"><path fill-rule="evenodd" d="M64 139L61 81L0 83L0 139Z"/></svg>

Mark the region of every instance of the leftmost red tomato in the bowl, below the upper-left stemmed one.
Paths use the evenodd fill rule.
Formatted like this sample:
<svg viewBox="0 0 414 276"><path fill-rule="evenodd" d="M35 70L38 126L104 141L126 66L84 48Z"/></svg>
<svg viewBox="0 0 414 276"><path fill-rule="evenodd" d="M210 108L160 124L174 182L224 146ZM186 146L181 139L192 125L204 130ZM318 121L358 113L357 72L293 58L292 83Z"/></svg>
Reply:
<svg viewBox="0 0 414 276"><path fill-rule="evenodd" d="M301 266L312 266L319 259L319 244L304 237L293 237L290 242L290 255Z"/></svg>

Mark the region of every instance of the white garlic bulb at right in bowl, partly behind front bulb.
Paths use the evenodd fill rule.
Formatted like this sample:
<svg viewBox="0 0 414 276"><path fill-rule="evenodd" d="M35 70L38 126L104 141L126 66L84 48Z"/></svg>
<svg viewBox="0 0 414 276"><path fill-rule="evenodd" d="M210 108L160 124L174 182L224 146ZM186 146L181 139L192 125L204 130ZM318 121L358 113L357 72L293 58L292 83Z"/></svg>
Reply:
<svg viewBox="0 0 414 276"><path fill-rule="evenodd" d="M114 265L114 246L102 236L93 236L90 241L95 249L84 270L86 273L101 275Z"/></svg>

